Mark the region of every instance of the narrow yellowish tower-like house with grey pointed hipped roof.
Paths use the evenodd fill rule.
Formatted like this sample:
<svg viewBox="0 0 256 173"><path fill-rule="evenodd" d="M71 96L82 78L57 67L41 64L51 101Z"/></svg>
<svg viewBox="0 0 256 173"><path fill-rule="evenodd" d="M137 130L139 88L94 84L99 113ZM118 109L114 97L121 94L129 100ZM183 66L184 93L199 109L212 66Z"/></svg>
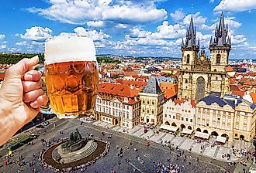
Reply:
<svg viewBox="0 0 256 173"><path fill-rule="evenodd" d="M150 77L139 95L141 100L140 122L154 125L160 123L163 116L164 92L161 91L157 79Z"/></svg>

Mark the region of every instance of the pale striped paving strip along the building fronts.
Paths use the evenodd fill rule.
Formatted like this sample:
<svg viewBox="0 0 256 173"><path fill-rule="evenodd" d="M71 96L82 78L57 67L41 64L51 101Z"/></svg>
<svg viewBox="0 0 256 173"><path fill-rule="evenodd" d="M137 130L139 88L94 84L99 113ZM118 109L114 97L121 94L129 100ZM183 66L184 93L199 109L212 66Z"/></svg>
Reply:
<svg viewBox="0 0 256 173"><path fill-rule="evenodd" d="M196 140L192 140L189 137L178 137L174 136L173 134L167 134L164 132L159 132L158 134L154 133L153 130L148 130L147 133L144 133L144 127L142 125L138 125L134 127L133 129L127 130L123 129L123 127L114 127L111 124L108 124L106 122L102 121L95 121L92 124L100 126L100 127L109 127L112 128L113 131L123 132L130 135L133 135L135 137L140 137L147 139L149 141L154 141L158 144L166 144L170 143L171 146L181 148L182 150L189 151L196 154L202 154L209 158L216 158L217 160L227 161L227 158L222 158L223 154L230 154L231 159L230 161L238 161L239 158L237 158L230 147L228 147L228 144L225 146L211 146L214 144L216 139L210 138L207 142L196 142ZM247 146L249 148L249 145L244 141L236 142L235 143L238 149L243 148L244 146ZM202 146L205 146L205 148L201 149Z"/></svg>

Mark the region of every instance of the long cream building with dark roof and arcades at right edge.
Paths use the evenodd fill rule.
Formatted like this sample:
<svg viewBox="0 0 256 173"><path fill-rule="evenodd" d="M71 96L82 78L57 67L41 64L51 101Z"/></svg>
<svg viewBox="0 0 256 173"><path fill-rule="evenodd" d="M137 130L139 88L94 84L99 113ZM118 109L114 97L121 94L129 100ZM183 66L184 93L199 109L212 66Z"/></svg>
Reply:
<svg viewBox="0 0 256 173"><path fill-rule="evenodd" d="M256 105L233 95L209 95L196 104L195 131L251 141L255 135Z"/></svg>

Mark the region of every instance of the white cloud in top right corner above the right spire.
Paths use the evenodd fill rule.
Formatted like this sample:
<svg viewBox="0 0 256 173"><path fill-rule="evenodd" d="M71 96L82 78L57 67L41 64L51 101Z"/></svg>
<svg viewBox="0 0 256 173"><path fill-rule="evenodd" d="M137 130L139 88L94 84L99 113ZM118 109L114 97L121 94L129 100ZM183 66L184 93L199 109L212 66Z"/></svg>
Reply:
<svg viewBox="0 0 256 173"><path fill-rule="evenodd" d="M223 6L224 5L224 6ZM255 0L222 0L219 5L214 8L214 11L221 11L222 9L231 12L244 12L251 9L256 9Z"/></svg>

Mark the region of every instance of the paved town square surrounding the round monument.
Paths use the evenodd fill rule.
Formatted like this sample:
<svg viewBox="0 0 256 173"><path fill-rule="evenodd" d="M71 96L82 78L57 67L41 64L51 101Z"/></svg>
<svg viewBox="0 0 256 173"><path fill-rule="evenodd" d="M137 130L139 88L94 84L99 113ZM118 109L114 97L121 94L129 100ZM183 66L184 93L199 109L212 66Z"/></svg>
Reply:
<svg viewBox="0 0 256 173"><path fill-rule="evenodd" d="M109 153L104 158L100 158L95 164L86 168L85 172L156 172L154 165L161 163L163 165L175 165L181 172L240 172L242 168L236 168L228 165L227 158L222 158L223 153L231 154L231 161L238 161L230 148L223 146L211 146L209 142L197 142L189 137L178 137L168 133L155 133L148 130L144 133L144 127L138 125L133 129L113 126L105 122L92 121L81 124L79 120L62 120L54 128L49 125L43 131L40 131L40 137L33 140L33 145L23 145L21 148L13 151L11 160L16 160L19 156L25 157L26 165L19 166L15 163L10 165L0 165L0 172L33 172L29 167L30 161L35 161L33 168L38 172L54 172L50 169L44 169L40 163L33 158L39 155L43 150L41 140L52 141L60 137L68 137L71 131L78 129L82 136L93 135L110 142ZM30 130L36 132L35 130ZM105 134L112 134L108 138ZM27 132L26 132L27 133ZM146 146L149 141L150 146ZM171 145L171 148L168 146ZM176 151L176 147L182 151ZM204 148L202 148L204 146ZM123 157L118 156L119 148L123 148ZM137 150L134 150L137 148ZM190 151L191 150L191 151ZM181 155L181 156L179 156ZM5 157L1 158L3 163ZM126 160L129 160L127 162ZM247 167L247 169L249 166ZM81 172L81 171L74 171Z"/></svg>

